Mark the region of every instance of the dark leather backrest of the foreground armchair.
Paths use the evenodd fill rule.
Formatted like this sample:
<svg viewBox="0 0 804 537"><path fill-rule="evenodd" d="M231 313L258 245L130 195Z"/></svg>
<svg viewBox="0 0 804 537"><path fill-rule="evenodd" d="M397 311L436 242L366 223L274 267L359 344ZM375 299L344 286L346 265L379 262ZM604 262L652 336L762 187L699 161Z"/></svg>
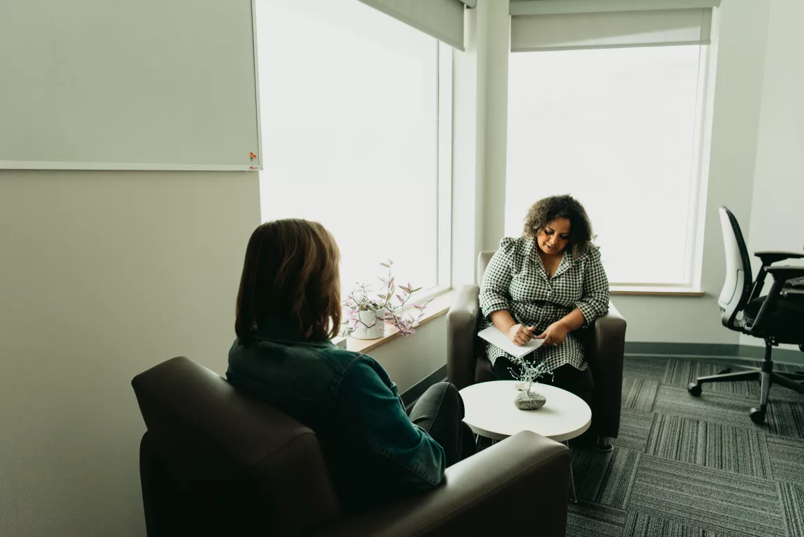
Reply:
<svg viewBox="0 0 804 537"><path fill-rule="evenodd" d="M339 516L310 428L186 358L132 385L148 535L296 535Z"/></svg>

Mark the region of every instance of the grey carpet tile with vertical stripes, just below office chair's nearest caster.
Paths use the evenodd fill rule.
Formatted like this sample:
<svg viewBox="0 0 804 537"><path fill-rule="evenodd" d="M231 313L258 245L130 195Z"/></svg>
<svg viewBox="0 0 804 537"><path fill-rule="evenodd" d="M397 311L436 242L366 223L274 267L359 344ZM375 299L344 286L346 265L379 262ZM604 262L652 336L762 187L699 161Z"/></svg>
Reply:
<svg viewBox="0 0 804 537"><path fill-rule="evenodd" d="M757 428L658 415L645 453L754 478L773 478L765 432Z"/></svg>

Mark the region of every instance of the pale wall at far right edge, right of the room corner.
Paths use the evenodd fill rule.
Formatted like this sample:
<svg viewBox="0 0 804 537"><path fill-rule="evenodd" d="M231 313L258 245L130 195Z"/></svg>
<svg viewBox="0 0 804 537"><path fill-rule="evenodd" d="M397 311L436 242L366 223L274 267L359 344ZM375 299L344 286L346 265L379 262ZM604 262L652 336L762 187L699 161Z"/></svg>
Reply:
<svg viewBox="0 0 804 537"><path fill-rule="evenodd" d="M725 3L725 2L724 2ZM749 251L804 247L804 2L773 0L754 173ZM757 260L758 261L758 260ZM755 261L756 271L760 263ZM786 261L785 264L802 264ZM761 339L741 336L747 345ZM786 346L798 349L797 346Z"/></svg>

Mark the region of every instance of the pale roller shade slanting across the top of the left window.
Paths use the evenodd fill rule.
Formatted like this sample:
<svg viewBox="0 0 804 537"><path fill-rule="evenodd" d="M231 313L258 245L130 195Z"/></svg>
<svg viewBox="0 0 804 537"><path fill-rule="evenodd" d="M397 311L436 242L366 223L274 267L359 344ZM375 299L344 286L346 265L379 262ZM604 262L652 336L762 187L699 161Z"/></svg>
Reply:
<svg viewBox="0 0 804 537"><path fill-rule="evenodd" d="M463 50L461 0L360 0L427 35Z"/></svg>

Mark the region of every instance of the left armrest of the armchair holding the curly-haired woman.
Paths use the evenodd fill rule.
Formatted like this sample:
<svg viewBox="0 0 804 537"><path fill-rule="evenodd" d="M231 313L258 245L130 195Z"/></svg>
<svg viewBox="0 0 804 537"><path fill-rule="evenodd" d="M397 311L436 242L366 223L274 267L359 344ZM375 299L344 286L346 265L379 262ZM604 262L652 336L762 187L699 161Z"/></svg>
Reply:
<svg viewBox="0 0 804 537"><path fill-rule="evenodd" d="M447 380L459 390L474 384L479 295L478 285L464 285L447 312Z"/></svg>

